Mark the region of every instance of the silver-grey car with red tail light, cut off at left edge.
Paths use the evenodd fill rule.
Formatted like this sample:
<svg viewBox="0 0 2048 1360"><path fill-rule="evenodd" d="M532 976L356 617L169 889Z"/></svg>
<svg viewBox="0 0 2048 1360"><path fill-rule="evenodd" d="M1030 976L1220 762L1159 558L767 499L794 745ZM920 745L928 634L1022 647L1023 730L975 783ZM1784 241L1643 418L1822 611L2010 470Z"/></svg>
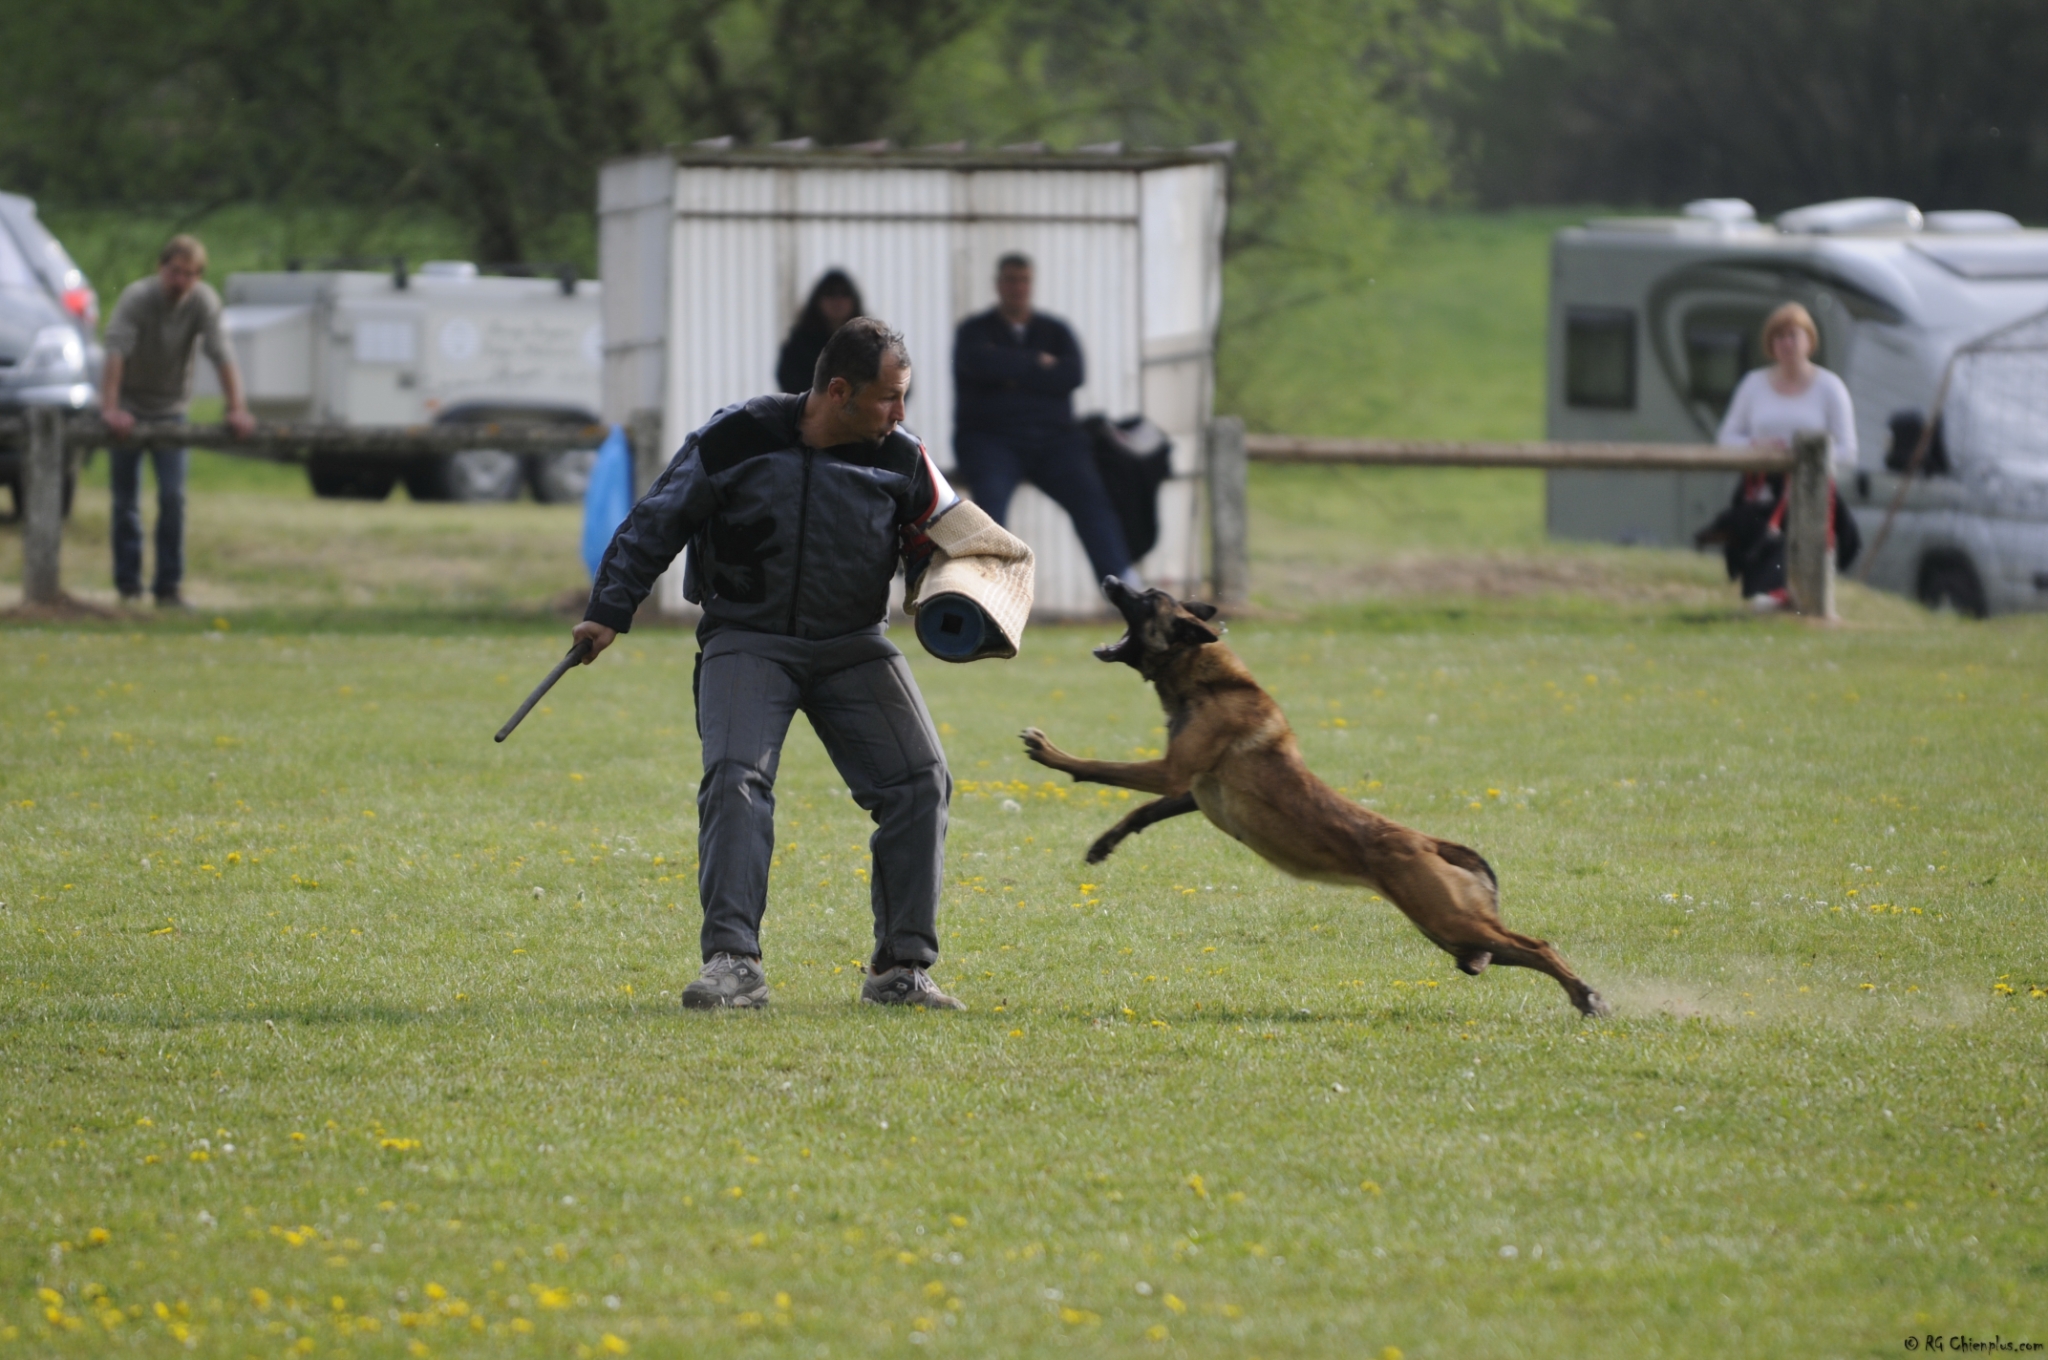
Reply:
<svg viewBox="0 0 2048 1360"><path fill-rule="evenodd" d="M100 299L57 238L37 221L35 203L0 193L0 416L31 406L82 412L98 403ZM23 447L0 436L0 483L23 510ZM70 479L63 487L70 506Z"/></svg>

